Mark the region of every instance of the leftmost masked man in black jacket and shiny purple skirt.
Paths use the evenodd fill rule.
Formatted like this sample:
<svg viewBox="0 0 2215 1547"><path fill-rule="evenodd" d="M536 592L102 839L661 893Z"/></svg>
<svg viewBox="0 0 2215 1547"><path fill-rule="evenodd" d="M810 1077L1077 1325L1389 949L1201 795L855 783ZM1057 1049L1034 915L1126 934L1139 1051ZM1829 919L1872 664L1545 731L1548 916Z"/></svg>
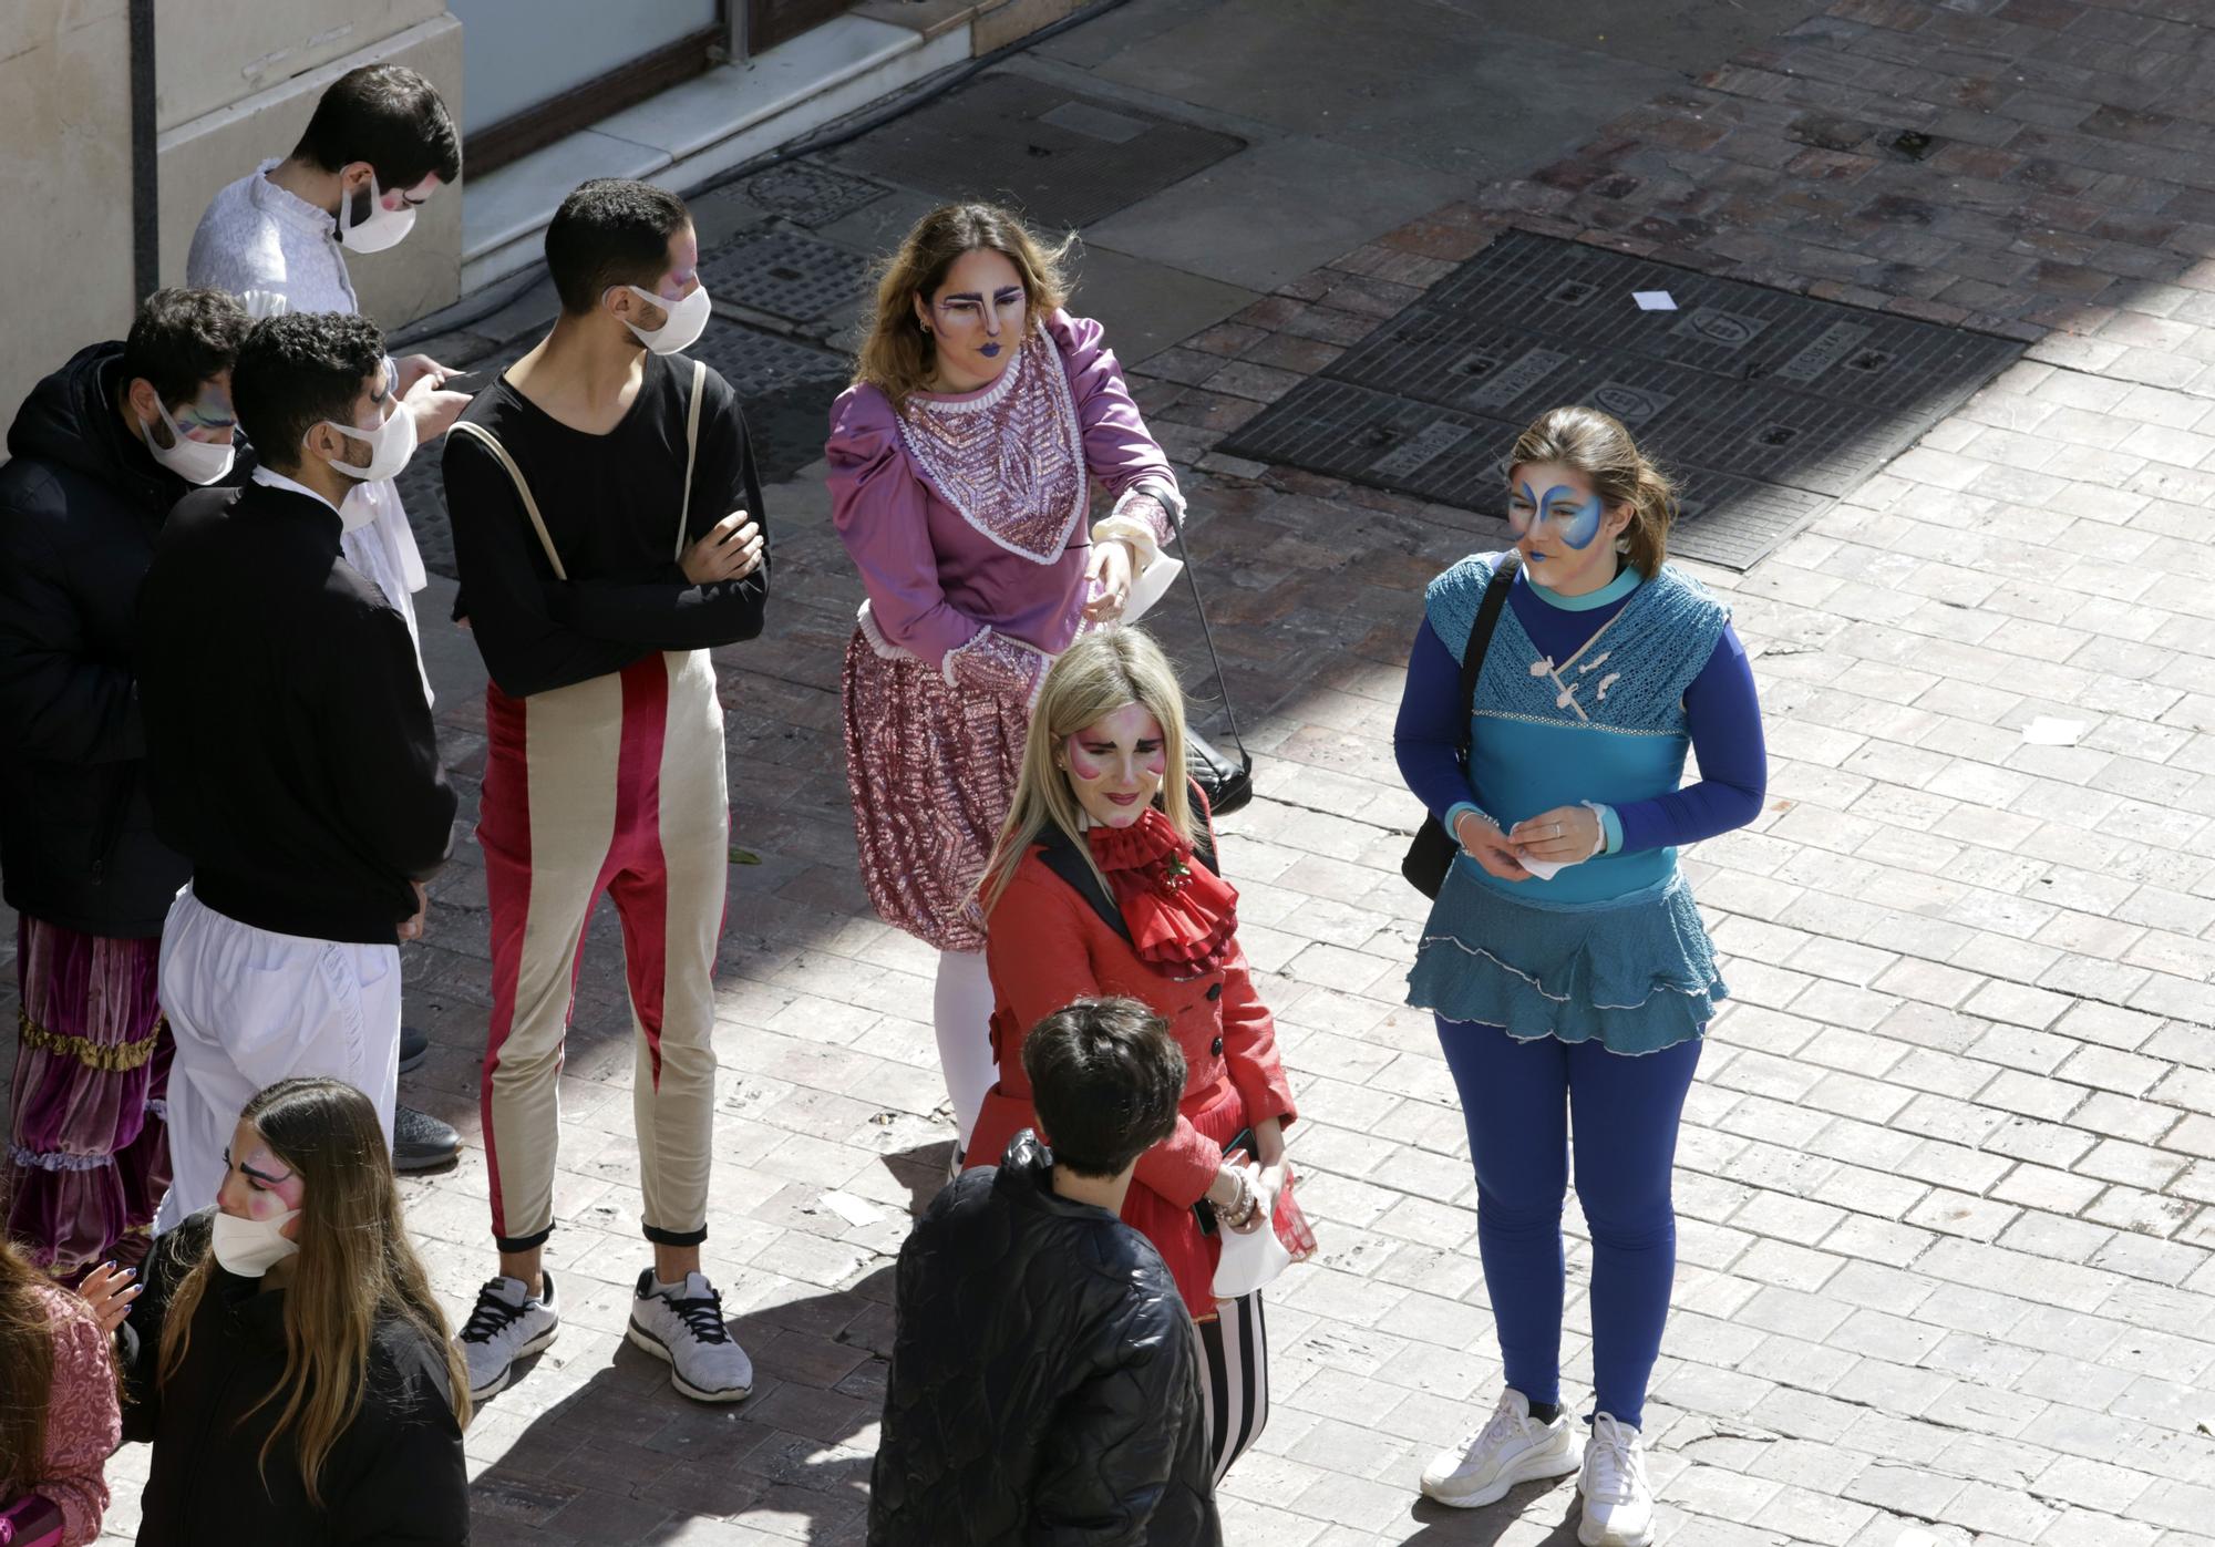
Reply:
<svg viewBox="0 0 2215 1547"><path fill-rule="evenodd" d="M155 290L16 412L0 468L0 873L18 924L7 1234L55 1277L135 1261L168 1188L162 918L131 618L162 519L230 477L246 308Z"/></svg>

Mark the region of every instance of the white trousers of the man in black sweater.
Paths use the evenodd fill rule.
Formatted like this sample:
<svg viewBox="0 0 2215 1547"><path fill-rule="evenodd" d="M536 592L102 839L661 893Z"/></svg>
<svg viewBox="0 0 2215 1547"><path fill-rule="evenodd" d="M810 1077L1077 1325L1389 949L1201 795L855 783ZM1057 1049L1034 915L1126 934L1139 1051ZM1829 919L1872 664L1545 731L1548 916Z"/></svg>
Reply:
<svg viewBox="0 0 2215 1547"><path fill-rule="evenodd" d="M210 1208L239 1108L292 1075L361 1088L392 1144L401 1062L401 951L241 924L186 887L162 926L171 1186L153 1228Z"/></svg>

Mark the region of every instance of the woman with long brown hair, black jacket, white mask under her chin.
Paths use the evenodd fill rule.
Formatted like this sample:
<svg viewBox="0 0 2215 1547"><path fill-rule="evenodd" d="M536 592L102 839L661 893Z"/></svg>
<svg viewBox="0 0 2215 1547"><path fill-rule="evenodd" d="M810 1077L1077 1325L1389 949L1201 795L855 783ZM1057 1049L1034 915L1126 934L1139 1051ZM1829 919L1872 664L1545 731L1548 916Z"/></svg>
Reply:
<svg viewBox="0 0 2215 1547"><path fill-rule="evenodd" d="M470 1540L470 1383L401 1226L377 1108L255 1095L217 1206L159 1237L124 1330L140 1547Z"/></svg>

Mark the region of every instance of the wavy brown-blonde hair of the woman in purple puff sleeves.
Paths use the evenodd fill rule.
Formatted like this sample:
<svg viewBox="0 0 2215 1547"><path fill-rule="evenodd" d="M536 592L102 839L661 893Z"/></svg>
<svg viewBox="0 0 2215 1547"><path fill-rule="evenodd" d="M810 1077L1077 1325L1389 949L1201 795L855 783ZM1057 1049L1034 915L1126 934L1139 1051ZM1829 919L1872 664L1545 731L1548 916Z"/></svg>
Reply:
<svg viewBox="0 0 2215 1547"><path fill-rule="evenodd" d="M915 317L946 284L946 270L964 253L992 248L1023 279L1023 315L1037 326L1070 299L1061 264L1076 244L1072 230L1048 246L1017 215L997 204L941 204L915 222L899 250L884 262L877 277L877 321L855 359L853 379L884 392L893 408L904 408L908 392L924 390L937 346Z"/></svg>

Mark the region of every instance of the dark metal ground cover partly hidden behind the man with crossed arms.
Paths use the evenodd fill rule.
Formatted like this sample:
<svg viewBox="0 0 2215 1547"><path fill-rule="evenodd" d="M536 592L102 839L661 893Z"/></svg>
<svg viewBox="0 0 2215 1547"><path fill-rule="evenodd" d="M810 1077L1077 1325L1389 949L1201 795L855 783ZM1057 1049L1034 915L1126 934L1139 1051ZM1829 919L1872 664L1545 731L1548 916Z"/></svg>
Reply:
<svg viewBox="0 0 2215 1547"><path fill-rule="evenodd" d="M474 381L494 381L536 344L538 335L529 335L478 361L474 370L483 375ZM722 319L711 321L689 352L738 392L762 483L782 483L822 457L831 399L846 390L851 361ZM454 576L454 525L445 510L445 481L439 477L441 452L443 445L419 450L401 470L399 490L423 565ZM769 514L775 521L777 512Z"/></svg>

